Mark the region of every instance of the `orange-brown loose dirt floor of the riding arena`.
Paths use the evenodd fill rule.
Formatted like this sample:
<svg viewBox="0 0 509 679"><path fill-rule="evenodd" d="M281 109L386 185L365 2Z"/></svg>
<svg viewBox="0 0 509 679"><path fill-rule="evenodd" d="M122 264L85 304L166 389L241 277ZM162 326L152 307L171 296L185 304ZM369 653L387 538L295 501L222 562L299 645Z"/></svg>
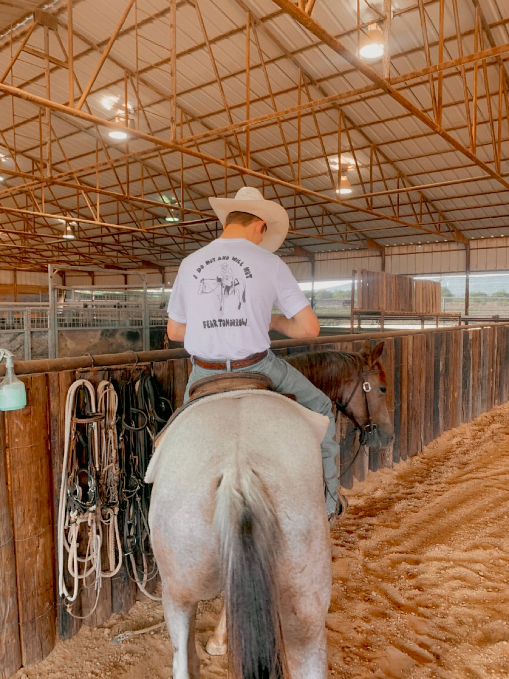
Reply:
<svg viewBox="0 0 509 679"><path fill-rule="evenodd" d="M394 469L347 492L332 531L327 617L331 677L509 677L509 404L447 432ZM202 678L227 676L204 646L219 600L200 606ZM16 679L168 679L166 628L111 643L162 620L149 600L96 629L82 627Z"/></svg>

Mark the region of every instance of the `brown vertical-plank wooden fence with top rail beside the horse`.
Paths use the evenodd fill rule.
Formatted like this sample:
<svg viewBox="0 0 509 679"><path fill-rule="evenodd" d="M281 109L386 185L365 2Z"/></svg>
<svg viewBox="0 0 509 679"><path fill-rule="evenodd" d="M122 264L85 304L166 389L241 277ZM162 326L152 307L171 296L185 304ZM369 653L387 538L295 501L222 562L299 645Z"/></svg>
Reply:
<svg viewBox="0 0 509 679"><path fill-rule="evenodd" d="M280 354L322 348L358 350L370 335L322 337L303 346L279 341ZM377 333L371 339L379 339ZM356 436L350 422L338 418L341 485L350 488L369 469L415 455L430 441L483 411L509 400L509 324L383 333L381 360L388 375L396 441L390 449L361 449L352 462ZM64 405L77 378L95 386L102 379L136 378L146 369L162 383L172 405L181 405L190 363L187 354L150 352L143 362L132 354L116 361L108 356L96 367L56 367L49 361L39 374L26 374L38 363L19 364L25 373L28 405L0 413L0 679L22 665L43 659L55 639L70 638L81 621L69 616L56 591L56 517L64 448ZM118 356L117 356L118 359ZM81 365L90 365L81 358ZM130 361L130 365L128 364ZM125 365L121 365L124 363ZM16 364L18 365L18 364ZM63 368L63 369L62 369ZM84 592L79 606L90 610ZM92 595L92 598L94 596ZM125 572L102 589L89 625L105 622L112 612L129 610L136 591ZM77 611L79 612L79 610Z"/></svg>

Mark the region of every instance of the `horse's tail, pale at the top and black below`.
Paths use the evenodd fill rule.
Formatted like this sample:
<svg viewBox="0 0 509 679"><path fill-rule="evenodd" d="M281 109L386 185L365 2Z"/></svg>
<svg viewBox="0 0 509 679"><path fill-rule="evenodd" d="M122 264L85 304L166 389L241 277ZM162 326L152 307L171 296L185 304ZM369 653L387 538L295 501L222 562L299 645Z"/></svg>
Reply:
<svg viewBox="0 0 509 679"><path fill-rule="evenodd" d="M216 525L227 618L229 669L235 679L288 676L280 623L276 553L278 519L250 469L224 475L216 494Z"/></svg>

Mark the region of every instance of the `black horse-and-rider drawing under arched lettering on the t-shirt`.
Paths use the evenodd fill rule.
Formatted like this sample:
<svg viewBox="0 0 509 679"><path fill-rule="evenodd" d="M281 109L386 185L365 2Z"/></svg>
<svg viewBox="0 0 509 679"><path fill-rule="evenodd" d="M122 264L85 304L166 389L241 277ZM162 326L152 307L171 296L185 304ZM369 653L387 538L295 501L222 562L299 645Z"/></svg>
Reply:
<svg viewBox="0 0 509 679"><path fill-rule="evenodd" d="M208 295L212 293L212 299L219 303L219 314L223 316L225 309L232 312L234 309L239 311L242 304L246 301L246 280L245 278L252 278L249 267L244 266L238 257L231 258L231 264L238 264L239 270L235 268L235 273L231 268L229 261L219 261L221 259L229 260L229 256L212 257L207 260L205 265L200 265L197 269L201 273L207 266L207 274L215 274L215 276L200 278L198 286L198 295ZM213 266L210 266L212 265ZM210 266L210 269L208 268ZM193 274L194 275L194 274ZM244 280L242 276L244 275ZM197 278L197 276L194 276Z"/></svg>

